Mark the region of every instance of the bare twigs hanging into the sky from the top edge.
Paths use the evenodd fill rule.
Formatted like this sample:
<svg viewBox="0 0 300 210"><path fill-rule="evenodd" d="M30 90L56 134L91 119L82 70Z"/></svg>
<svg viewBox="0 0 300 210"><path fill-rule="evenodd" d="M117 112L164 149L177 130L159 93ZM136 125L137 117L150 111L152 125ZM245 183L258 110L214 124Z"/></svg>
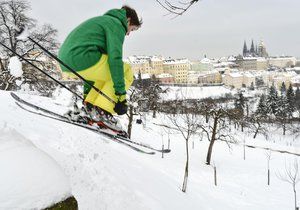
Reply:
<svg viewBox="0 0 300 210"><path fill-rule="evenodd" d="M156 2L162 6L169 14L176 16L183 15L191 6L197 3L199 0L187 0L187 1L167 1L156 0Z"/></svg>

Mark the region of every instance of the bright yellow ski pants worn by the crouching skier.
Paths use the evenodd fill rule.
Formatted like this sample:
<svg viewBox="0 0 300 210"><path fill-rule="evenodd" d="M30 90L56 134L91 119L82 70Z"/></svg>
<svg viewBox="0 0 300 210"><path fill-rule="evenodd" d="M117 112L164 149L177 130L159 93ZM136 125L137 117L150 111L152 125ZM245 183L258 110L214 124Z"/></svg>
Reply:
<svg viewBox="0 0 300 210"><path fill-rule="evenodd" d="M64 74L65 73L69 77L77 78L77 76L72 72L64 72ZM117 102L118 97L115 95L115 90L113 87L114 84L110 74L107 55L102 54L101 59L95 65L85 70L77 71L77 73L84 79L94 82L94 86L96 88L98 88L109 98ZM127 91L133 82L133 72L130 65L126 63L124 63L124 80L125 89ZM97 91L93 88L87 94L85 101L93 104L94 106L98 106L101 109L110 112L111 114L115 114L115 104L97 93Z"/></svg>

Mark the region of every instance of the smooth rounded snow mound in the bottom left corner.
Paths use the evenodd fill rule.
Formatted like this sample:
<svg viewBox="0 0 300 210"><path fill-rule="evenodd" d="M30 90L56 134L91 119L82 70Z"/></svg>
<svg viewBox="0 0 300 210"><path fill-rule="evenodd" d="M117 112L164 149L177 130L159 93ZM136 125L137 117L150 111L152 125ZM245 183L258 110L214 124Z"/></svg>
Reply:
<svg viewBox="0 0 300 210"><path fill-rule="evenodd" d="M71 195L61 167L14 129L0 129L0 209L41 209Z"/></svg>

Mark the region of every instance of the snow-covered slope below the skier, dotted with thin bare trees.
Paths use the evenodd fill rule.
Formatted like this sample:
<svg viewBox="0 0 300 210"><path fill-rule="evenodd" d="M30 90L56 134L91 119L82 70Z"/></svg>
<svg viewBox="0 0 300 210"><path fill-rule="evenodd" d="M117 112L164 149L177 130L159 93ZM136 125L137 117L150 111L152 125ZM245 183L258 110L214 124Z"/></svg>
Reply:
<svg viewBox="0 0 300 210"><path fill-rule="evenodd" d="M67 103L62 104L59 97L53 101L23 93L19 95L60 113L66 110ZM294 155L272 152L271 185L268 186L265 150L246 148L244 160L242 146L232 145L232 149L228 149L226 143L216 142L212 157L217 167L218 185L215 186L213 168L205 165L208 142L194 137L194 149L192 142L190 144L187 193L183 193L185 142L179 134L170 135L172 152L164 158L161 154L144 155L84 128L26 112L14 103L9 92L1 91L0 100L0 134L14 129L51 156L70 178L72 194L78 200L79 209L294 209L292 186L278 178L286 166L293 163ZM146 128L134 125L132 139L154 147L161 147L164 142L166 147L168 135L153 124L164 121L163 115L155 120L147 116ZM247 144L297 151L297 139L288 139L295 144L287 146L277 143L280 135L272 137L269 142L262 137L253 140L245 136L245 139ZM15 154L16 158L18 155Z"/></svg>

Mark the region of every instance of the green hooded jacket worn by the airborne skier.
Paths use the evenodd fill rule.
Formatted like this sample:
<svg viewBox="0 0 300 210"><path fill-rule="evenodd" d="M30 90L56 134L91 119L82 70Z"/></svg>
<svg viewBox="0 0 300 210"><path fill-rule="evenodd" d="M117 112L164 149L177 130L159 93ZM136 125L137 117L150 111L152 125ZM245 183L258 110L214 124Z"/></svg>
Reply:
<svg viewBox="0 0 300 210"><path fill-rule="evenodd" d="M62 44L58 57L72 69L81 71L96 64L102 54L107 54L115 92L125 94L122 57L126 32L126 11L109 10L77 26ZM61 68L69 71L62 65Z"/></svg>

